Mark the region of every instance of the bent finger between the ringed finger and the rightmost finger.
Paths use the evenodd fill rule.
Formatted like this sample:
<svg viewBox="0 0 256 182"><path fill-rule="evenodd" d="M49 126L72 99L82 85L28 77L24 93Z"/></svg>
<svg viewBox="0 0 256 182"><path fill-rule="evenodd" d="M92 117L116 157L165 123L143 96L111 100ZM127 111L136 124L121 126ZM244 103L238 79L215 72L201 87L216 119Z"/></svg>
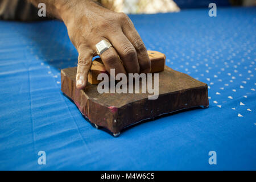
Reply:
<svg viewBox="0 0 256 182"><path fill-rule="evenodd" d="M108 39L117 50L123 65L125 65L126 71L128 73L139 73L137 52L122 30L117 31L114 35L108 36Z"/></svg>

